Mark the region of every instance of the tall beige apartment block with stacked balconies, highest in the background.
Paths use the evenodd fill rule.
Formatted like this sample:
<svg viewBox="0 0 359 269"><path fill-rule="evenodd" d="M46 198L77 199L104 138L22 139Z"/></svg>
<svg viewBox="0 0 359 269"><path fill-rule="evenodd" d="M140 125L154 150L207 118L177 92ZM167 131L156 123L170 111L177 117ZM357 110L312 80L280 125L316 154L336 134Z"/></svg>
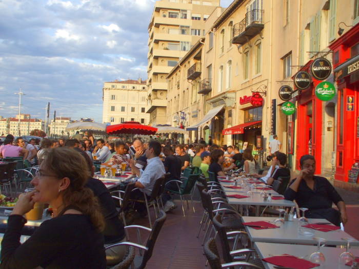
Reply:
<svg viewBox="0 0 359 269"><path fill-rule="evenodd" d="M204 23L219 0L156 1L148 26L146 112L150 125L166 123L166 76L204 35Z"/></svg>

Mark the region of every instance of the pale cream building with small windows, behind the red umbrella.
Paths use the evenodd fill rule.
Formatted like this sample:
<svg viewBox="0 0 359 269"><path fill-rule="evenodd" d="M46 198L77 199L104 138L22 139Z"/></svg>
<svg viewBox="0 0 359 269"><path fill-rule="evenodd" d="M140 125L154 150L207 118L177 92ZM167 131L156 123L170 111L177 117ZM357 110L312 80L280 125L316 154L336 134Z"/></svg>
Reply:
<svg viewBox="0 0 359 269"><path fill-rule="evenodd" d="M128 79L105 82L103 88L103 116L105 124L114 125L125 121L138 121L148 125L146 113L146 80Z"/></svg>

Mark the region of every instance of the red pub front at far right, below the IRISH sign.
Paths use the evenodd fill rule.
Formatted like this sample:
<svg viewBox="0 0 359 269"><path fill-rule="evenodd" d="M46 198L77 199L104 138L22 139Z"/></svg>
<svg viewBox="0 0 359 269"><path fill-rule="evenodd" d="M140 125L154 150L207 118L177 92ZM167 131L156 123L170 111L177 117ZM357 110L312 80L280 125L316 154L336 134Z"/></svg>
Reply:
<svg viewBox="0 0 359 269"><path fill-rule="evenodd" d="M359 25L329 47L338 90L335 179L348 181L349 170L359 162Z"/></svg>

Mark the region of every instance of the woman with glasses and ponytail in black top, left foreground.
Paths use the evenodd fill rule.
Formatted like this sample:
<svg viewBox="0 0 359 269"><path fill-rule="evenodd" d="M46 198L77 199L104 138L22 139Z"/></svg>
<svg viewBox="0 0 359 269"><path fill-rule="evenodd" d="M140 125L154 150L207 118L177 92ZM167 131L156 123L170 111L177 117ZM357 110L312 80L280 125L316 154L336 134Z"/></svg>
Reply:
<svg viewBox="0 0 359 269"><path fill-rule="evenodd" d="M85 188L90 174L85 159L69 148L50 149L8 219L0 268L106 268L104 219L93 192ZM20 231L35 202L50 203L54 218L44 221L20 243Z"/></svg>

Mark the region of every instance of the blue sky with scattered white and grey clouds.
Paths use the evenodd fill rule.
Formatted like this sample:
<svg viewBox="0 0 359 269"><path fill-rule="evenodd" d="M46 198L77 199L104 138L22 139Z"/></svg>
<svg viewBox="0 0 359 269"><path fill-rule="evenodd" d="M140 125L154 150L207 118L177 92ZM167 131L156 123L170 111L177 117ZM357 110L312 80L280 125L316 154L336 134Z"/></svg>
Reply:
<svg viewBox="0 0 359 269"><path fill-rule="evenodd" d="M0 116L93 118L102 88L147 79L154 0L0 0ZM232 0L222 0L228 7Z"/></svg>

